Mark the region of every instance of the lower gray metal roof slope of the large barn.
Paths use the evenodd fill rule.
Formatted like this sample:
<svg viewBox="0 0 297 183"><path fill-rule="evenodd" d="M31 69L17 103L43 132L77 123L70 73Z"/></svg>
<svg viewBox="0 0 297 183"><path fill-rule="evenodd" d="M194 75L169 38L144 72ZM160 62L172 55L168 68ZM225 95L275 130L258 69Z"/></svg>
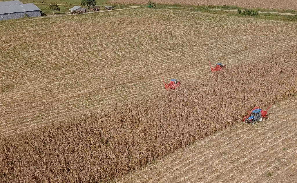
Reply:
<svg viewBox="0 0 297 183"><path fill-rule="evenodd" d="M0 14L40 10L34 3L0 6Z"/></svg>

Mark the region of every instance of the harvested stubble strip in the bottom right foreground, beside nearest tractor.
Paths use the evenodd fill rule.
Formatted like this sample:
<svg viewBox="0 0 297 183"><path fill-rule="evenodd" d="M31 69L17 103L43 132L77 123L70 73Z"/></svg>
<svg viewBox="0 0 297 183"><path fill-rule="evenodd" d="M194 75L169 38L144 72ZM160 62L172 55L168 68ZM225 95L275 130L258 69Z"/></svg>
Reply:
<svg viewBox="0 0 297 183"><path fill-rule="evenodd" d="M255 126L234 125L117 182L296 182L296 111L294 97Z"/></svg>

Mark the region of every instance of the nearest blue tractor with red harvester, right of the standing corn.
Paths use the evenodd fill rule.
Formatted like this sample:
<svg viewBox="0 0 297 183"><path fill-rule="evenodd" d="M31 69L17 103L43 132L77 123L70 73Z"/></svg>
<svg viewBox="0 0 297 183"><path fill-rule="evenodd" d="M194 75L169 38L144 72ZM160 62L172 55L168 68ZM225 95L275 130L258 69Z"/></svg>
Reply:
<svg viewBox="0 0 297 183"><path fill-rule="evenodd" d="M251 125L255 125L257 122L263 121L263 118L268 118L267 111L270 107L271 106L269 106L266 111L260 109L259 107L255 107L251 111L247 111L249 114L247 116L244 116L244 119L242 121L246 123L251 123Z"/></svg>

